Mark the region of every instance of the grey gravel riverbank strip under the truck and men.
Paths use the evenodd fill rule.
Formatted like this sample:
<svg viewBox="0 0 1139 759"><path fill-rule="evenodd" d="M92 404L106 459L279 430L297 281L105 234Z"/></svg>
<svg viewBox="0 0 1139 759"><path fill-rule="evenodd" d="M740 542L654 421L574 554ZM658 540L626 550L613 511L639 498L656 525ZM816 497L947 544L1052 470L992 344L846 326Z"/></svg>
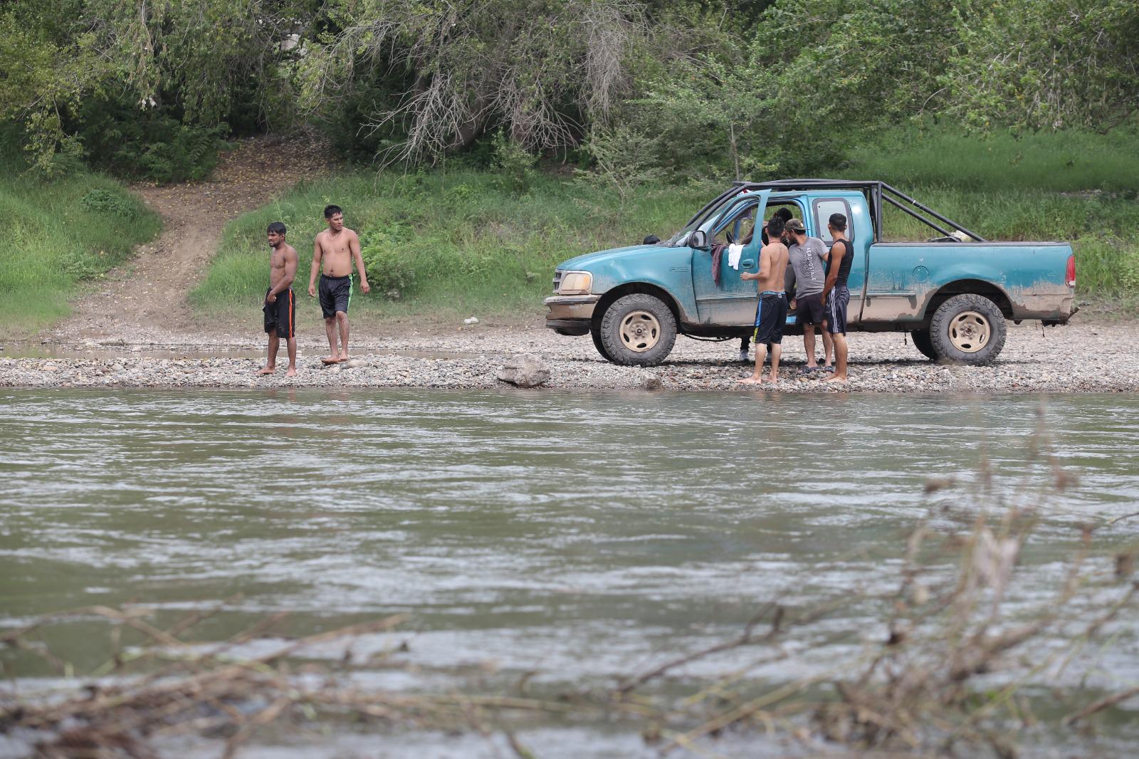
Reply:
<svg viewBox="0 0 1139 759"><path fill-rule="evenodd" d="M802 337L784 340L780 392L1006 393L1133 392L1139 390L1139 349L1133 324L1076 324L1041 329L1009 326L992 366L939 366L898 333L850 335L850 383L802 378ZM163 340L166 337L167 340ZM677 341L669 361L653 368L618 367L587 337L565 337L540 325L473 325L435 334L361 338L346 365L323 367L327 343L302 338L298 374L259 377L264 345L256 338L216 336L186 343L151 334L149 342L9 344L0 351L0 386L11 387L507 387L497 378L510 356L533 353L550 369L549 389L738 390L748 367L736 360L737 341ZM821 345L819 346L821 354ZM771 390L768 385L765 390Z"/></svg>

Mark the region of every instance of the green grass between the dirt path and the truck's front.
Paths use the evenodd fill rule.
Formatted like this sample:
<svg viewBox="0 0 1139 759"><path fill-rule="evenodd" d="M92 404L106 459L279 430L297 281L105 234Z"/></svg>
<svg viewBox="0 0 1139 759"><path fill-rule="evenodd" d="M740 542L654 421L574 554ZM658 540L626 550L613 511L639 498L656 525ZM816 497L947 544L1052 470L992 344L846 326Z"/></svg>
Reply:
<svg viewBox="0 0 1139 759"><path fill-rule="evenodd" d="M255 308L269 276L265 227L282 221L297 250L294 288L309 281L323 207L344 209L361 237L372 295L352 308L384 316L534 312L554 267L590 251L672 234L713 188L645 191L623 209L615 193L550 176L514 194L489 172L354 172L303 183L230 222L191 297L205 311ZM398 291L399 299L388 293ZM306 310L318 311L316 303ZM311 315L309 316L311 319Z"/></svg>

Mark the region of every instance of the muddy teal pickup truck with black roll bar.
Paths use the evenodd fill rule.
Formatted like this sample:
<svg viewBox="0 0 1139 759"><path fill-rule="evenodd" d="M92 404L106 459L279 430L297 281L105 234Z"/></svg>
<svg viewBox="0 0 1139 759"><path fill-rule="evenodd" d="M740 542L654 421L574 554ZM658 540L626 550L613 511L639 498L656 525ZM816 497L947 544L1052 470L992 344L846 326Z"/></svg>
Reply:
<svg viewBox="0 0 1139 759"><path fill-rule="evenodd" d="M927 225L924 243L882 237L884 204ZM664 242L618 247L562 262L546 299L546 326L592 335L614 364L655 366L677 335L741 337L752 332L759 264L756 220L787 207L808 235L831 240L827 220L847 218L854 247L850 274L851 332L908 332L926 357L960 364L992 361L1005 345L1006 320L1065 324L1076 311L1075 256L1066 243L994 243L880 181L787 179L735 182ZM713 245L743 244L738 269L728 252L713 276ZM795 332L794 315L788 332Z"/></svg>

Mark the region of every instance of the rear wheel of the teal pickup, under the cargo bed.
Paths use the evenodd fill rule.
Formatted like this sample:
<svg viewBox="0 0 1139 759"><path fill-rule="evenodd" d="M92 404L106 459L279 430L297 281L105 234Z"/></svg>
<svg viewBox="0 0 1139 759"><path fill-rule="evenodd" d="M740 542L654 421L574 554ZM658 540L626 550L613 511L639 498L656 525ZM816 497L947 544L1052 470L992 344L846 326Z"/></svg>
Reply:
<svg viewBox="0 0 1139 759"><path fill-rule="evenodd" d="M1000 308L984 295L954 295L929 321L937 358L952 364L989 364L1005 348L1008 326Z"/></svg>

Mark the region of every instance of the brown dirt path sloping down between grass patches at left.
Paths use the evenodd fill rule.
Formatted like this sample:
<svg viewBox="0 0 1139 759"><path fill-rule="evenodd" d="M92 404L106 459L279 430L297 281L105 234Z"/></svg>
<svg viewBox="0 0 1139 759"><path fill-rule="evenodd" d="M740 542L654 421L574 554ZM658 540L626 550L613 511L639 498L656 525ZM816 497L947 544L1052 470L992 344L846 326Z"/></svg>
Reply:
<svg viewBox="0 0 1139 759"><path fill-rule="evenodd" d="M195 317L188 296L205 275L226 222L328 169L327 150L316 140L254 137L223 154L208 180L133 186L162 214L162 235L76 297L72 316L51 330L52 337L146 343L224 329ZM267 277L268 266L267 259Z"/></svg>

